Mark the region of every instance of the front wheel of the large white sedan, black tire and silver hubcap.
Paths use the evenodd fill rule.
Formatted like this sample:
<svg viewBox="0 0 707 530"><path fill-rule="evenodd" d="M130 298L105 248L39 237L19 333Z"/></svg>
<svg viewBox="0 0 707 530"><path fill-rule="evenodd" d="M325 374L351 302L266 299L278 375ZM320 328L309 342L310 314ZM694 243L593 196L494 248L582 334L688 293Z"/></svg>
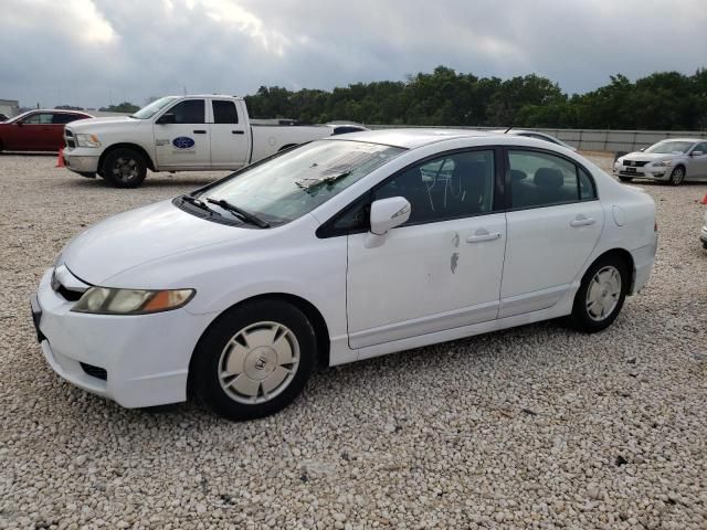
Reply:
<svg viewBox="0 0 707 530"><path fill-rule="evenodd" d="M264 333L256 339L272 333L273 344L283 341L279 348L289 351L291 357L284 357L292 362L283 362L276 348L256 346L260 341L255 339L252 344L242 340L255 333ZM299 309L286 301L255 300L226 310L209 327L194 349L190 381L196 395L215 414L232 421L254 420L292 403L305 388L316 359L314 328ZM267 390L268 396L264 383L274 384L282 368L287 375ZM250 386L247 394L236 388L243 385L236 382L240 378Z"/></svg>

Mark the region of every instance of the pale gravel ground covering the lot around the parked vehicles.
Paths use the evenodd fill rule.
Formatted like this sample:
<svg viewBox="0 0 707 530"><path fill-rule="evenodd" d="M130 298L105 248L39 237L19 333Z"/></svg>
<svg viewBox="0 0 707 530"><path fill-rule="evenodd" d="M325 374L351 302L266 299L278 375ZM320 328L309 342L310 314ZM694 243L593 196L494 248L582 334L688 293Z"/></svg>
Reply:
<svg viewBox="0 0 707 530"><path fill-rule="evenodd" d="M317 373L284 412L128 411L63 383L28 297L115 190L0 157L0 529L707 528L707 186L641 184L661 242L606 331L526 326Z"/></svg>

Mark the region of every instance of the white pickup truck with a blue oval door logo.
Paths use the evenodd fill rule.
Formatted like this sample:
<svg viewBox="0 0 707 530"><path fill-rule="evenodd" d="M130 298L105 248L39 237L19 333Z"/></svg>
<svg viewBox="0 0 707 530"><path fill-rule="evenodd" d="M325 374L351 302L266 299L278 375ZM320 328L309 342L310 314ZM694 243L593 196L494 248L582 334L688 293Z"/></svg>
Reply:
<svg viewBox="0 0 707 530"><path fill-rule="evenodd" d="M241 97L167 96L131 116L70 124L63 157L78 174L97 173L116 188L137 188L147 169L239 169L334 131L331 126L257 124Z"/></svg>

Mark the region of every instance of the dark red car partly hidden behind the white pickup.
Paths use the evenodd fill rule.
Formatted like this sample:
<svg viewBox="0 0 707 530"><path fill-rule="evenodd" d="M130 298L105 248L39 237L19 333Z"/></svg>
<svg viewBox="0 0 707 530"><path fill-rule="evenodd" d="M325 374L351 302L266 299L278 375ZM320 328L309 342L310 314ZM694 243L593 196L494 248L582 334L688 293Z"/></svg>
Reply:
<svg viewBox="0 0 707 530"><path fill-rule="evenodd" d="M93 118L80 110L30 110L0 123L0 151L59 151L64 125Z"/></svg>

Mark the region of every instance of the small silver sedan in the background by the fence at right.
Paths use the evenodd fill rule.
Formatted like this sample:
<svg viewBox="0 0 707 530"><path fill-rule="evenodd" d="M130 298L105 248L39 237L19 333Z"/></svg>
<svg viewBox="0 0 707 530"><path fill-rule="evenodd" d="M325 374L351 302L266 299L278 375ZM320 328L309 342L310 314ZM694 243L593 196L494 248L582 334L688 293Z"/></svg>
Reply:
<svg viewBox="0 0 707 530"><path fill-rule="evenodd" d="M707 181L707 140L671 138L647 149L630 152L614 162L622 182L651 179L679 186L686 180Z"/></svg>

